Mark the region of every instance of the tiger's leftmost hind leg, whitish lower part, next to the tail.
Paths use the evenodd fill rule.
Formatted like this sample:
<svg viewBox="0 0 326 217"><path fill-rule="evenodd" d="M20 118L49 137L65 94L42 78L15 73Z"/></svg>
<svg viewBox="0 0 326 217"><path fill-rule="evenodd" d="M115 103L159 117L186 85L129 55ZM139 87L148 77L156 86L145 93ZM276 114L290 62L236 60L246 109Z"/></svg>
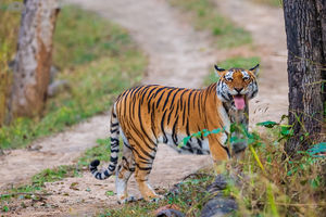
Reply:
<svg viewBox="0 0 326 217"><path fill-rule="evenodd" d="M127 192L128 180L134 171L135 159L131 148L128 145L128 142L124 141L122 162L118 165L115 177L115 190L120 204L135 201L135 197L129 196Z"/></svg>

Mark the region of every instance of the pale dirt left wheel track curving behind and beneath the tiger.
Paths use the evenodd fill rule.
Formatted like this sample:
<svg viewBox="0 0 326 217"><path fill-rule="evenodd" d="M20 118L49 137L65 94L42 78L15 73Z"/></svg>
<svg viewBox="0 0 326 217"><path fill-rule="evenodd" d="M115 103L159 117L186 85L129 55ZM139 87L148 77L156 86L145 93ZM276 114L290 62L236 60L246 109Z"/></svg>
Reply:
<svg viewBox="0 0 326 217"><path fill-rule="evenodd" d="M206 75L208 67L214 62L215 56L210 52L205 36L183 23L165 1L142 0L137 4L131 0L70 2L97 11L130 30L150 59L145 84L199 87L202 84L200 78ZM93 117L68 131L37 141L32 145L40 148L37 151L11 151L2 156L0 163L1 186L28 180L43 168L72 164L85 149L95 145L98 138L108 136L108 116ZM159 145L150 181L153 187L168 188L209 163L208 156L178 155L166 145ZM70 189L73 182L78 183L76 188L79 191ZM83 178L48 183L47 191L53 195L47 197L47 206L42 203L27 208L17 206L16 214L73 215L75 210L84 213L83 207L92 213L95 208L90 207L116 205L114 196L105 196L108 190L114 190L113 178L98 181L87 173ZM139 195L134 179L129 191Z"/></svg>

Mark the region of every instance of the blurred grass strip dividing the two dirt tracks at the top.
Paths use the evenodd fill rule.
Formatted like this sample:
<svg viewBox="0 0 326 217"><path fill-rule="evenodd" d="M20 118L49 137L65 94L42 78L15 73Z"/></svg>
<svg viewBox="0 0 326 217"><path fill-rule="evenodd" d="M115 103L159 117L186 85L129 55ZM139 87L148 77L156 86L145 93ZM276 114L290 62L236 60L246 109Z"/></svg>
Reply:
<svg viewBox="0 0 326 217"><path fill-rule="evenodd" d="M171 4L190 14L191 23L199 30L208 30L214 36L217 48L235 48L252 42L243 28L229 18L221 16L211 0L170 0Z"/></svg>

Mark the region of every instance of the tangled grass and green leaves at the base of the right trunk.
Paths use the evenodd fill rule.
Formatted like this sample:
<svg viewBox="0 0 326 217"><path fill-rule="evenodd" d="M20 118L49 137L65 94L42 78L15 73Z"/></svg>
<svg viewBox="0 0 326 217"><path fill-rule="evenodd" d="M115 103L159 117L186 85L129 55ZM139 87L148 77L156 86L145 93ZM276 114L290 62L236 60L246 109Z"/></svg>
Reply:
<svg viewBox="0 0 326 217"><path fill-rule="evenodd" d="M314 151L300 152L298 158L288 158L284 142L293 133L290 126L264 122L268 127L265 135L256 135L250 145L242 166L241 187L234 187L230 193L237 197L241 209L249 216L318 216L325 207L326 182L323 177L326 157L323 143L312 146ZM271 129L271 127L273 129ZM267 133L267 135L266 135ZM321 145L322 144L322 145ZM316 148L316 149L315 149ZM246 177L246 179L244 179Z"/></svg>

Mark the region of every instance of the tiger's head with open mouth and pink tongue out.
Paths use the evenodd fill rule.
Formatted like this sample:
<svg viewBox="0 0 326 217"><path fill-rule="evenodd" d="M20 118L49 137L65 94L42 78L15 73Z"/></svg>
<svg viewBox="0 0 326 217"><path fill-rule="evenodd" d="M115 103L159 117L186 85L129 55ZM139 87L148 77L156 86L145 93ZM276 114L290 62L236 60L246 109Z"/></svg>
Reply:
<svg viewBox="0 0 326 217"><path fill-rule="evenodd" d="M249 71L243 68L224 69L215 65L220 75L217 97L222 102L230 102L236 110L243 110L246 101L258 93L256 74L259 64Z"/></svg>

